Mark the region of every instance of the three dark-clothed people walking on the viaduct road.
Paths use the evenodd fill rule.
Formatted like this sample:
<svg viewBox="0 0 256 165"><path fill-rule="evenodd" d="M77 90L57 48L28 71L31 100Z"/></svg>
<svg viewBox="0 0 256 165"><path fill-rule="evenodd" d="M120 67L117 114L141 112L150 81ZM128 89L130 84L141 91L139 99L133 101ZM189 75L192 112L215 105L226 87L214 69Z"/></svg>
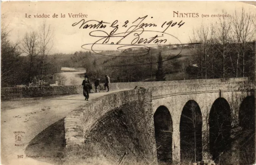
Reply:
<svg viewBox="0 0 256 165"><path fill-rule="evenodd" d="M107 87L108 91L109 91L110 77L108 75L105 75L105 78L106 78L106 82L104 84L104 90L106 90L106 87ZM89 80L87 75L84 76L84 80L82 82L82 86L84 88L83 94L84 94L85 100L88 101L89 93L90 93L90 90L92 89L92 84L90 83L90 80ZM98 88L98 86L100 86L100 79L97 79L94 82L94 86L95 86L95 92L98 92L98 90L100 92L100 89Z"/></svg>

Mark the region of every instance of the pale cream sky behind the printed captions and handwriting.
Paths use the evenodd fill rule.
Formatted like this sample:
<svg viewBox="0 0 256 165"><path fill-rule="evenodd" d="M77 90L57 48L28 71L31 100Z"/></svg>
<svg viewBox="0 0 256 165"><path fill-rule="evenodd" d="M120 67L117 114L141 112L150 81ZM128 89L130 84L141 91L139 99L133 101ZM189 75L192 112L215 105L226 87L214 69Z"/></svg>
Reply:
<svg viewBox="0 0 256 165"><path fill-rule="evenodd" d="M193 28L196 29L202 24L207 26L211 23L216 24L219 18L213 18L212 15L223 14L226 12L229 16L234 16L234 11L238 13L244 7L248 11L255 11L256 7L244 2L214 2L214 1L48 1L48 2L2 2L2 25L7 25L10 30L10 40L22 41L24 34L30 31L38 31L42 22L46 21L46 24L51 26L53 30L53 47L52 53L74 53L76 51L86 51L82 49L82 45L95 43L97 40L102 39L106 34L110 34L114 27L110 27L114 21L118 21L113 26L118 25L118 29L108 44L116 43L124 36L131 26L137 25L137 22L147 16L142 22L144 23L143 34L138 36L138 32L133 32L122 40L120 44L124 45L127 49L133 42L139 44L141 41L150 41L157 36L157 39L166 39L164 44L176 44L176 43L189 43L190 37L192 37ZM178 12L174 14L174 12ZM87 15L87 18L70 18L69 14L83 14ZM181 13L184 17L182 17ZM189 13L190 17L186 17L184 13ZM194 14L193 14L194 13ZM35 18L34 15L46 14L50 18ZM52 18L54 14L58 14L58 18ZM60 18L60 15L65 14L65 18ZM31 15L31 18L26 18ZM202 18L202 15L206 16ZM207 15L209 17L207 17ZM194 17L192 17L194 16ZM138 19L141 18L141 19ZM89 21L88 24L95 24L96 21L107 22L106 28L101 29L83 29L79 28L84 19L84 22ZM138 20L137 20L138 19ZM90 21L96 20L96 21ZM136 22L137 20L137 22ZM125 22L128 21L126 24ZM135 22L134 22L135 21ZM167 28L167 23L172 21L171 25L177 22L173 27ZM97 22L97 23L98 23ZM132 23L134 22L134 23ZM166 22L164 24L164 22ZM180 22L180 27L178 23ZM76 24L72 26L72 24ZM141 25L139 24L139 25ZM145 27L145 24L155 24L156 27ZM163 27L162 24L164 24ZM126 25L126 27L124 27ZM166 29L167 28L167 29ZM130 30L133 28L130 28ZM166 29L164 31L164 29ZM101 30L101 31L95 31ZM146 31L145 31L146 30ZM92 32L94 31L94 32ZM164 33L162 33L164 31ZM93 37L91 35L97 35ZM120 33L120 34L117 34ZM137 33L137 36L136 36ZM97 43L102 43L100 40ZM155 39L154 39L155 41ZM152 41L153 42L153 41ZM156 45L151 43L142 43L143 45ZM147 45L148 44L148 45ZM162 44L162 43L161 43ZM86 49L91 49L92 45L83 46ZM120 45L94 45L94 50L106 50L116 49ZM122 48L119 48L122 49Z"/></svg>

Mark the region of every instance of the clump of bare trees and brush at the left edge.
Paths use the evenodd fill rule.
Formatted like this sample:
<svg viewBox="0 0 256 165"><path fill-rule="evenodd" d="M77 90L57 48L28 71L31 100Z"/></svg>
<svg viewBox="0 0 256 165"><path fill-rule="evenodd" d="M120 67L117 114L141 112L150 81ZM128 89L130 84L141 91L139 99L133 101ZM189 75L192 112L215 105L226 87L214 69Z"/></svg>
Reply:
<svg viewBox="0 0 256 165"><path fill-rule="evenodd" d="M4 23L1 33L1 86L24 84L33 79L43 80L60 70L58 55L50 55L53 46L53 29L43 22L38 31L28 31L21 41L12 43L9 29ZM42 81L38 81L42 85Z"/></svg>

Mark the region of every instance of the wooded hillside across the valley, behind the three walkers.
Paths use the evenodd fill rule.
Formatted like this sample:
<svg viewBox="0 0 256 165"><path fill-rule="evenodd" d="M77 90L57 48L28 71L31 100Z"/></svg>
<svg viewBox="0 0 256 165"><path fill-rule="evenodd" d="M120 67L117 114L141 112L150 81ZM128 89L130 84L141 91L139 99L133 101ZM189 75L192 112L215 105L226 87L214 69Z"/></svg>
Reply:
<svg viewBox="0 0 256 165"><path fill-rule="evenodd" d="M128 51L102 51L100 54L86 52L75 52L69 55L59 55L62 67L83 67L91 79L104 79L107 74L112 82L127 81L150 81L154 79L157 69L158 54L161 52L164 69L168 74L180 71L183 63L192 61L192 48L152 48L149 52L144 50ZM113 57L114 56L114 57ZM171 59L172 58L172 59ZM168 60L171 59L171 60ZM175 79L179 79L176 76Z"/></svg>

